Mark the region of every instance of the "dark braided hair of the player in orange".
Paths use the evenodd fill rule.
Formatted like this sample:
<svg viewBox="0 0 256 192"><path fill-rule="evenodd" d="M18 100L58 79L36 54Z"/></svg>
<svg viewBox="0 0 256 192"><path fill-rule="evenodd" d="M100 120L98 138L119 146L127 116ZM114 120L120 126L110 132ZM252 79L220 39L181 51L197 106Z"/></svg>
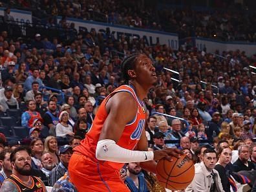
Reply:
<svg viewBox="0 0 256 192"><path fill-rule="evenodd" d="M137 58L139 54L132 54L130 56L127 56L123 59L121 63L122 67L122 76L125 84L129 83L130 77L128 74L128 70L134 69L134 61Z"/></svg>

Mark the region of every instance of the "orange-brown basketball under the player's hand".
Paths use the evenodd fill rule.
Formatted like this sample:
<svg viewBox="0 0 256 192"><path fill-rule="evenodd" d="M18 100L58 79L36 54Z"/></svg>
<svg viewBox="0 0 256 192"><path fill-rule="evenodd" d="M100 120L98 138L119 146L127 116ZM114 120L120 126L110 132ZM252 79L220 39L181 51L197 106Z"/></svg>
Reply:
<svg viewBox="0 0 256 192"><path fill-rule="evenodd" d="M193 161L186 155L172 157L173 161L162 158L156 165L156 177L160 184L170 190L181 190L192 182L195 175Z"/></svg>

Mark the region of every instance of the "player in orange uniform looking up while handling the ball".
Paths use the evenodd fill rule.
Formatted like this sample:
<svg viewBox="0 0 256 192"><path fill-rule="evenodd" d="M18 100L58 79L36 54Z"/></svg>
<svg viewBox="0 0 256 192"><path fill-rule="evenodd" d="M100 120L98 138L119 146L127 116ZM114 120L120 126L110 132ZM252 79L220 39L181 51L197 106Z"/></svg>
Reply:
<svg viewBox="0 0 256 192"><path fill-rule="evenodd" d="M69 174L78 191L123 191L129 189L120 180L124 163L156 173L153 160L179 157L178 149L147 151L145 107L142 100L157 77L153 62L144 54L134 54L122 62L125 84L109 94L100 105L92 128L74 148Z"/></svg>

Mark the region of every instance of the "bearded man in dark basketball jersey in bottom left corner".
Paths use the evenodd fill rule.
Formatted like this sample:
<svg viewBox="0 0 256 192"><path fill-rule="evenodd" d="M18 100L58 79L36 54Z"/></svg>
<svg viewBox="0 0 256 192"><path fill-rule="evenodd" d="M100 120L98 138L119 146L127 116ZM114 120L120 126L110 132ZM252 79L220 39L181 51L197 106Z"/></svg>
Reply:
<svg viewBox="0 0 256 192"><path fill-rule="evenodd" d="M5 180L1 186L1 191L23 191L27 188L27 183L30 183L31 190L47 191L42 180L32 175L32 167L30 160L30 152L26 147L17 147L10 155L10 162L12 165L12 175L8 180ZM20 159L27 160L27 166L21 167Z"/></svg>

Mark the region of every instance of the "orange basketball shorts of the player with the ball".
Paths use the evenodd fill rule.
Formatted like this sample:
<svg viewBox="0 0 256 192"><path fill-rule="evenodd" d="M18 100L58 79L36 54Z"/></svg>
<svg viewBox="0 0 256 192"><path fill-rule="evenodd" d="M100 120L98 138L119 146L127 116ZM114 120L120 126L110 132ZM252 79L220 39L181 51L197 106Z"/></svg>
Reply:
<svg viewBox="0 0 256 192"><path fill-rule="evenodd" d="M92 162L90 158L78 153L70 158L69 176L79 192L130 192L120 180L119 171Z"/></svg>

